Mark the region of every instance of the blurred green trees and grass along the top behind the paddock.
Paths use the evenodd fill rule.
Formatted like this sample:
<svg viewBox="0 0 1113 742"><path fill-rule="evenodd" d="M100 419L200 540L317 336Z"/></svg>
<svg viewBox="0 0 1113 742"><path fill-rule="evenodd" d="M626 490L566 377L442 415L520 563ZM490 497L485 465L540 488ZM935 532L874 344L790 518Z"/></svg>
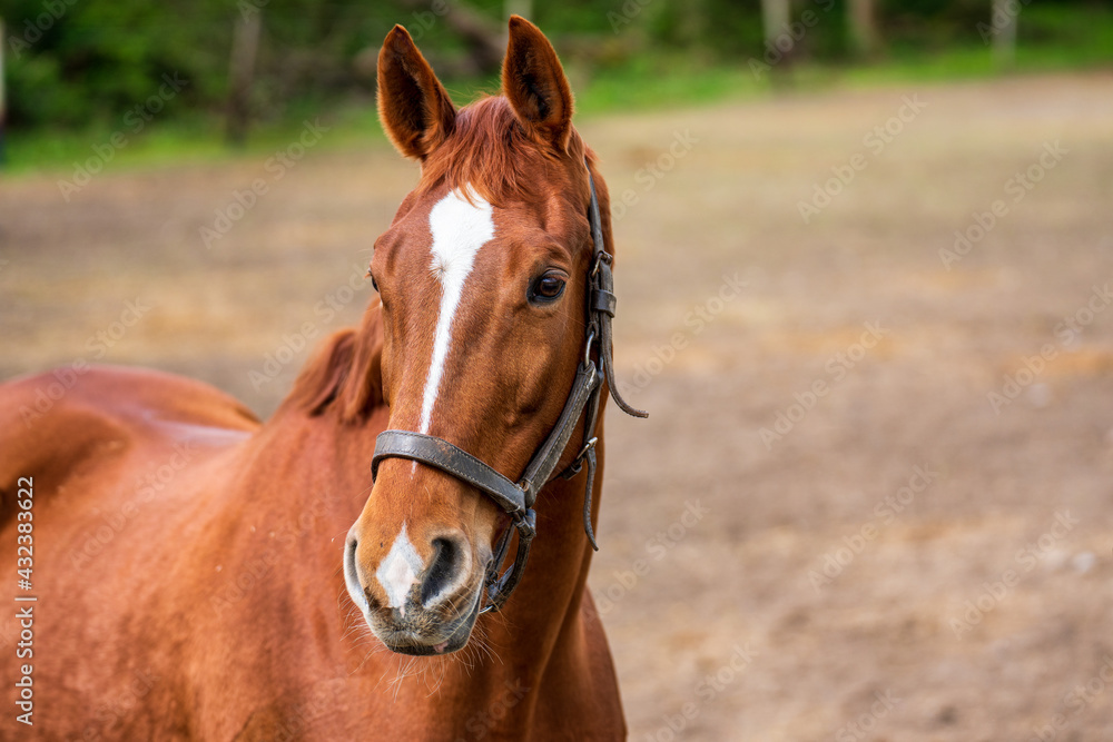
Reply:
<svg viewBox="0 0 1113 742"><path fill-rule="evenodd" d="M971 68L992 65L977 29L989 20L989 0L875 1L883 43L875 69L933 53ZM792 51L794 68L811 70L804 80L849 61L845 2L794 0L794 20L807 11L818 19ZM502 26L504 0L0 0L8 122L51 132L61 155L68 132L119 129L164 76L177 75L188 85L160 106L159 127L211 135L228 95L233 29L245 13L263 19L250 109L264 123L368 108L375 53L396 22L451 90L492 86L490 71L466 63L467 42L445 19L446 7L486 19L494 33ZM759 0L534 0L532 19L554 41L588 109L766 82L748 66L767 51ZM1018 28L1022 52L1052 67L1113 60L1113 0L1032 0Z"/></svg>

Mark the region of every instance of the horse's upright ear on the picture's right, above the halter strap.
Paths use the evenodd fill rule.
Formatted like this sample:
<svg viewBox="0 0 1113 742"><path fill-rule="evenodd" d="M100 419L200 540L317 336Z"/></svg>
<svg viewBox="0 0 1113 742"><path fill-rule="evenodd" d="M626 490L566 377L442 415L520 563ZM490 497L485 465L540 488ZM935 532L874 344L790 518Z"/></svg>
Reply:
<svg viewBox="0 0 1113 742"><path fill-rule="evenodd" d="M549 39L521 16L510 17L502 92L530 135L565 151L572 131L572 89Z"/></svg>

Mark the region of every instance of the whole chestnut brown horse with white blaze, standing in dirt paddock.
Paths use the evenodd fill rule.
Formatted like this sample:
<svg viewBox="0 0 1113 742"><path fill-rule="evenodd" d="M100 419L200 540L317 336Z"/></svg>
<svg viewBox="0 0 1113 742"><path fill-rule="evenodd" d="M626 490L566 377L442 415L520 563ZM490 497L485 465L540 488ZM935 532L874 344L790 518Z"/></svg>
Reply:
<svg viewBox="0 0 1113 742"><path fill-rule="evenodd" d="M0 736L624 738L585 590L611 231L568 81L515 17L501 95L456 110L396 27L378 107L421 164L381 301L272 419L147 370L0 387L0 548L33 555L30 587L4 576ZM524 561L501 535L534 530L501 578Z"/></svg>

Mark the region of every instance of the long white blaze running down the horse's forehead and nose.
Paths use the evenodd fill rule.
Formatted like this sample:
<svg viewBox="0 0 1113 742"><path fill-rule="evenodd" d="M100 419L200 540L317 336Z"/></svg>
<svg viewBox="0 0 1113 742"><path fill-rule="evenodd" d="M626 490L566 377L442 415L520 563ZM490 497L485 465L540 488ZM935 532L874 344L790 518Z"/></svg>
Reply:
<svg viewBox="0 0 1113 742"><path fill-rule="evenodd" d="M433 235L429 267L441 283L441 311L436 318L433 358L422 395L421 433L429 433L444 375L444 362L452 344L452 320L464 294L464 281L475 264L475 254L494 237L491 205L475 192L471 197L474 205L469 204L459 191L450 191L429 214L429 229Z"/></svg>

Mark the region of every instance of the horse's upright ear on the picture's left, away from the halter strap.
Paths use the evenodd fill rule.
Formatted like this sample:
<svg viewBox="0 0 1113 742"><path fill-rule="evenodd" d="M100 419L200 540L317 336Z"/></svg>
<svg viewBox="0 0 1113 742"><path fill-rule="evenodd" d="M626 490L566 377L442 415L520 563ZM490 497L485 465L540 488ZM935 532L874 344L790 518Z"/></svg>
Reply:
<svg viewBox="0 0 1113 742"><path fill-rule="evenodd" d="M420 160L447 138L456 120L444 86L401 26L378 52L378 120L400 152Z"/></svg>

